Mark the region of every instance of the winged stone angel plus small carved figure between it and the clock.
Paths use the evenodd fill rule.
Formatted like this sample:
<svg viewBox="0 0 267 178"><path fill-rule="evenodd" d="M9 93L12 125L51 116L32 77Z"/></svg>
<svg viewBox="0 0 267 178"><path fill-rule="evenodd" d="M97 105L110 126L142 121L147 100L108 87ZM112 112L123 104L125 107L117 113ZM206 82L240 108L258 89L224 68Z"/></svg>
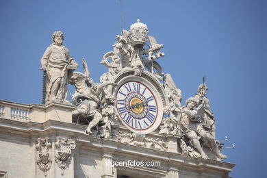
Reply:
<svg viewBox="0 0 267 178"><path fill-rule="evenodd" d="M103 103L103 89L106 86L115 86L112 81L103 81L101 84L94 83L90 77L90 71L85 59L82 60L84 73L75 72L69 83L75 86L75 94L72 95L73 104L76 109L73 110L74 120L79 121L79 118L88 120L86 133L92 134L92 128L101 133L101 137L107 138L110 136L110 127L113 124L111 117L114 115L112 99L109 103ZM112 96L112 94L110 94ZM100 127L96 127L101 125ZM99 130L100 129L100 130Z"/></svg>

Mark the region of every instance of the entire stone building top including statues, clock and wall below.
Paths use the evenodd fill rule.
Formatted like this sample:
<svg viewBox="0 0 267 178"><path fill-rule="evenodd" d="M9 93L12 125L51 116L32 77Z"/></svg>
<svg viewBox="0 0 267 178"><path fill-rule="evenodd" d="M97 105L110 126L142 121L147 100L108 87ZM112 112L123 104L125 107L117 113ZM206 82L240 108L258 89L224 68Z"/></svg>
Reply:
<svg viewBox="0 0 267 178"><path fill-rule="evenodd" d="M116 36L99 84L85 59L75 71L63 39L55 31L41 59L43 104L0 100L0 177L228 177L235 164L223 162L205 79L181 106L181 90L156 62L164 45L147 25Z"/></svg>

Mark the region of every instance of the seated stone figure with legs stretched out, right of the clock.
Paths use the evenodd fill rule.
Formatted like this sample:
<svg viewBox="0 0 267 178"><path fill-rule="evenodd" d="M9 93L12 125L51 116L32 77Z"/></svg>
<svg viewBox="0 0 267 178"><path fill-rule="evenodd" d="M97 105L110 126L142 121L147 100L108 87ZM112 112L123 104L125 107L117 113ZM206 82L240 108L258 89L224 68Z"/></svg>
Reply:
<svg viewBox="0 0 267 178"><path fill-rule="evenodd" d="M205 96L201 99L205 99ZM199 101L198 97L190 97L186 100L186 105L180 108L178 126L181 128L182 152L191 157L207 159L208 150L214 153L216 160L225 159L227 156L220 153L220 144L212 134L214 124L209 125L206 120L209 118L203 117L204 115L199 112L203 113L203 110L207 110L205 100Z"/></svg>

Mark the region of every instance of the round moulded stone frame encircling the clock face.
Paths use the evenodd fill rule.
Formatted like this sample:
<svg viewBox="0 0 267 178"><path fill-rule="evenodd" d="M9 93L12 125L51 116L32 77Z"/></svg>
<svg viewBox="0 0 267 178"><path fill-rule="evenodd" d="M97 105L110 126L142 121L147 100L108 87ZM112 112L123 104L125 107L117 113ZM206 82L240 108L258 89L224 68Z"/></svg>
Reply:
<svg viewBox="0 0 267 178"><path fill-rule="evenodd" d="M127 81L144 82L146 86L148 86L149 89L152 90L153 94L155 94L155 97L157 98L158 115L157 115L157 120L155 120L155 123L153 123L151 127L149 127L144 131L137 131L135 129L132 129L125 123L123 122L121 123L123 123L123 125L125 125L127 129L136 133L147 134L151 133L152 131L155 131L155 129L157 129L157 127L159 127L160 124L162 123L162 118L164 116L164 108L168 107L168 97L166 97L162 84L153 74L149 73L148 71L143 71L142 75L139 77L134 75L134 70L132 68L123 68L123 70L120 71L120 73L118 73L114 77L114 82L118 84L118 87L114 89L113 94L116 94L118 88L120 88L119 86L121 84L125 84L125 82ZM156 92L154 92L155 90ZM118 111L117 110L115 111L116 114L119 116Z"/></svg>

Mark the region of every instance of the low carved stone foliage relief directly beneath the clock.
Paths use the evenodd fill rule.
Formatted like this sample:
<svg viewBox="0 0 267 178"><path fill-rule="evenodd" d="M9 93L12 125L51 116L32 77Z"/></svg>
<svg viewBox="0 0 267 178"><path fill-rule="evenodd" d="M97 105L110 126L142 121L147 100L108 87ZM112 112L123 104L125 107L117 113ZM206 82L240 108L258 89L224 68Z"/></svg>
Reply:
<svg viewBox="0 0 267 178"><path fill-rule="evenodd" d="M122 142L125 144L132 144L139 147L146 147L151 149L158 149L161 151L167 151L168 146L162 140L158 138L149 138L145 137L143 134L138 133L124 133L122 131L118 131L118 135L116 135L116 141Z"/></svg>

